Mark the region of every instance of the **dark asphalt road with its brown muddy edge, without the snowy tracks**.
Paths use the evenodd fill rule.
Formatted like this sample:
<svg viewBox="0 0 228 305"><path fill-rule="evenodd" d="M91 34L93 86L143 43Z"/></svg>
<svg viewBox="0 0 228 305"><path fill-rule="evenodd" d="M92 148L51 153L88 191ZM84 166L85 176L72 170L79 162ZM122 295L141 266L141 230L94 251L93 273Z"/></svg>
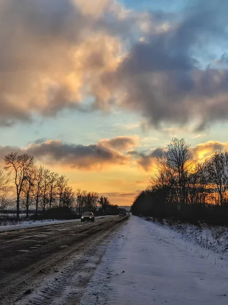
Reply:
<svg viewBox="0 0 228 305"><path fill-rule="evenodd" d="M111 216L0 233L0 304L14 304L31 282L42 281L77 252L94 251L97 243L123 223ZM92 248L91 248L92 247ZM92 253L91 252L91 253ZM22 291L21 291L22 290Z"/></svg>

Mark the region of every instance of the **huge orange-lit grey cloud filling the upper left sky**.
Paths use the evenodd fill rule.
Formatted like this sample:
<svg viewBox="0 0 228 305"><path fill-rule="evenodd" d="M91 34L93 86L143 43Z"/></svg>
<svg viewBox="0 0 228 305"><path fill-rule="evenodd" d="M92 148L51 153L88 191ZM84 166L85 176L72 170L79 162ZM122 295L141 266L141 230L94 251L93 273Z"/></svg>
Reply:
<svg viewBox="0 0 228 305"><path fill-rule="evenodd" d="M0 0L1 126L83 109L96 78L117 61L118 37L98 25L108 3Z"/></svg>

